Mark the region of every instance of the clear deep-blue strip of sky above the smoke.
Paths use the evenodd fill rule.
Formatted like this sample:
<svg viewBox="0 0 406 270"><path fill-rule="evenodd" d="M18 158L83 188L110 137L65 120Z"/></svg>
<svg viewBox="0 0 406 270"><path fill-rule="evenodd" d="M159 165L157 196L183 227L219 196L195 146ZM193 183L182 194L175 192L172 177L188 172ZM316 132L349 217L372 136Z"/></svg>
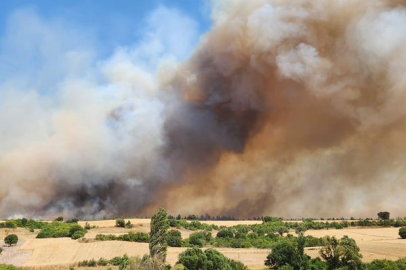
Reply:
<svg viewBox="0 0 406 270"><path fill-rule="evenodd" d="M201 33L210 27L205 0L13 0L0 1L0 37L10 15L32 8L44 19L64 20L92 32L103 41L101 49L106 53L139 38L146 17L159 6L177 9L193 18Z"/></svg>

